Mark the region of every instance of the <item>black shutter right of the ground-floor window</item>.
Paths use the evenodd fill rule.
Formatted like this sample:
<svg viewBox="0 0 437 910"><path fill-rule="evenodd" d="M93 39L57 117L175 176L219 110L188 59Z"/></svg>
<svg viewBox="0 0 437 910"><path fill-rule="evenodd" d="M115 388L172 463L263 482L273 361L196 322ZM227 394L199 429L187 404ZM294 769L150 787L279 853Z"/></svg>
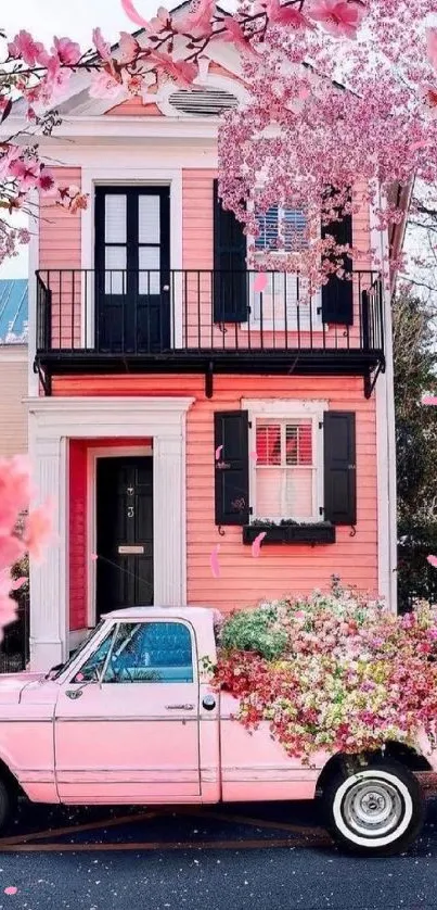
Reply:
<svg viewBox="0 0 437 910"><path fill-rule="evenodd" d="M324 428L324 520L333 524L357 521L355 414L329 410Z"/></svg>

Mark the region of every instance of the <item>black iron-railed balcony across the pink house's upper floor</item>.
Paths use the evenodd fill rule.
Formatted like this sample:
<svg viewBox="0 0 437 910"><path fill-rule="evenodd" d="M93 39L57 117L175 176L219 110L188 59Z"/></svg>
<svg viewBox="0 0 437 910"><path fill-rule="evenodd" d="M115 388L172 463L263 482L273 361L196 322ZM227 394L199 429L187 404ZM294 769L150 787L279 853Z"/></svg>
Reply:
<svg viewBox="0 0 437 910"><path fill-rule="evenodd" d="M78 374L362 376L369 397L384 369L384 306L376 271L331 279L348 298L333 323L323 293L299 276L272 271L50 269L37 273L35 370ZM348 287L345 287L348 286ZM343 319L343 323L342 323Z"/></svg>

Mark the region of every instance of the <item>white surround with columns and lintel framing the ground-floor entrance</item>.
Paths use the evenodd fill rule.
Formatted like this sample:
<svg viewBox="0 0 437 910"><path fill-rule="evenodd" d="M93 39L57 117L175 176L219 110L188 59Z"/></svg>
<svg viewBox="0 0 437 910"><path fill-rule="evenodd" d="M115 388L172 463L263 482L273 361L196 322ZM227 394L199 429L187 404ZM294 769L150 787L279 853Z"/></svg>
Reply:
<svg viewBox="0 0 437 910"><path fill-rule="evenodd" d="M30 667L68 655L68 440L153 438L155 603L187 603L185 417L192 397L28 399L38 501L54 502L46 560L30 560Z"/></svg>

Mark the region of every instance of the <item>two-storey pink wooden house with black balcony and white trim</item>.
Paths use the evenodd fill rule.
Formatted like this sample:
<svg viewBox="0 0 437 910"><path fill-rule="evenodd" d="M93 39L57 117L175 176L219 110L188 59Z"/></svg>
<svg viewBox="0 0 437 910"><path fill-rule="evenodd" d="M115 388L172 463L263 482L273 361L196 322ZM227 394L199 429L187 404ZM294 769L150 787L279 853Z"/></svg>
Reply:
<svg viewBox="0 0 437 910"><path fill-rule="evenodd" d="M95 100L80 75L41 138L89 207L43 200L30 249L29 445L56 504L31 566L35 668L120 605L231 610L336 573L396 608L388 280L365 252L384 261L387 238L363 206L342 226L363 251L351 281L310 304L292 275L256 291L217 198L217 113L244 99L234 49L207 49L200 89ZM271 210L257 249L301 217Z"/></svg>

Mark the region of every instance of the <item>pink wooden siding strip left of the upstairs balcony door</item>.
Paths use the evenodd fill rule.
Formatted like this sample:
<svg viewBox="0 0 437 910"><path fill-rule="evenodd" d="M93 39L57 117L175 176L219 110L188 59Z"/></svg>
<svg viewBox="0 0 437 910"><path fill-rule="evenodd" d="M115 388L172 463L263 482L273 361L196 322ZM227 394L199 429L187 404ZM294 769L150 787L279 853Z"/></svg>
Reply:
<svg viewBox="0 0 437 910"><path fill-rule="evenodd" d="M61 187L80 188L80 168L55 167L53 170ZM81 279L74 269L80 269L81 265L80 212L72 215L61 205L54 205L49 197L42 197L40 204L39 268L46 275L51 269L46 283L52 290L52 346L79 347ZM62 275L60 269L63 269Z"/></svg>

